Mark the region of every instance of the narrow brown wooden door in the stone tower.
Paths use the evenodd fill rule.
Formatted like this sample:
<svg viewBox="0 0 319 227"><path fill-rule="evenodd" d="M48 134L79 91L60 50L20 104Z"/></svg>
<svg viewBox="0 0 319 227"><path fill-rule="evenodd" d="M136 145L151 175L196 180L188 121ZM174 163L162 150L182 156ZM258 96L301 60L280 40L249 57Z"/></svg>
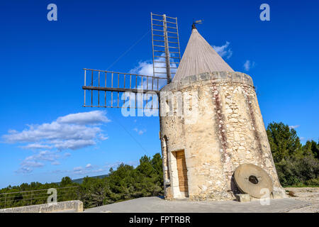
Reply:
<svg viewBox="0 0 319 227"><path fill-rule="evenodd" d="M179 191L189 192L189 184L187 181L187 167L184 150L176 152L177 172L179 175Z"/></svg>

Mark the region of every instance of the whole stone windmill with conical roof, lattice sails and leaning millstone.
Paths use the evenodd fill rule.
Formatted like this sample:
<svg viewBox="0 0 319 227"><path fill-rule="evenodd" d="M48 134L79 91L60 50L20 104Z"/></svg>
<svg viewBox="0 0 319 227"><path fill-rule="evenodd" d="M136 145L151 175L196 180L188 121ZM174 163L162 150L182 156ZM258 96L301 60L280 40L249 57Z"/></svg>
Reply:
<svg viewBox="0 0 319 227"><path fill-rule="evenodd" d="M84 106L159 110L167 199L286 196L252 78L218 55L198 23L181 58L177 18L151 13L153 74L84 69Z"/></svg>

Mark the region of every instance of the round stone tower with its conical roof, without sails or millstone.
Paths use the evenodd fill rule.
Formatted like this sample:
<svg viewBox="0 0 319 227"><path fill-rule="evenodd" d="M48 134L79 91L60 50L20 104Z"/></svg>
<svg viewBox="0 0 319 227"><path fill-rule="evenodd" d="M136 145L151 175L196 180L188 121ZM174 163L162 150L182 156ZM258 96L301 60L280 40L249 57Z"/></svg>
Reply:
<svg viewBox="0 0 319 227"><path fill-rule="evenodd" d="M160 100L167 199L234 199L234 171L245 163L282 192L252 78L234 72L195 27Z"/></svg>

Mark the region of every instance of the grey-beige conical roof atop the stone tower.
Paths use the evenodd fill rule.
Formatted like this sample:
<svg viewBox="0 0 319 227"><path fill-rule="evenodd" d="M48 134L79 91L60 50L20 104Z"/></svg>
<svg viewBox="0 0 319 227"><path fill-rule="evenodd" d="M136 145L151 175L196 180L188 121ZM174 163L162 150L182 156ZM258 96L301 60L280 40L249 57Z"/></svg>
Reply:
<svg viewBox="0 0 319 227"><path fill-rule="evenodd" d="M234 72L197 29L193 28L173 82L194 74L220 71Z"/></svg>

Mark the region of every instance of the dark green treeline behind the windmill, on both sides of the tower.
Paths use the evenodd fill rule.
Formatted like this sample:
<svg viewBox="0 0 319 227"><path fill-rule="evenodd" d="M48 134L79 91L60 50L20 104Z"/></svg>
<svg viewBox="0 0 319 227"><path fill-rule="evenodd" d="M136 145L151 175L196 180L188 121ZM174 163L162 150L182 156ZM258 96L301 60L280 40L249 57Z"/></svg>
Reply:
<svg viewBox="0 0 319 227"><path fill-rule="evenodd" d="M296 131L284 123L269 123L267 135L282 186L319 186L319 143L311 140L302 145ZM135 168L121 164L116 170L111 169L109 175L103 178L84 177L81 184L72 182L69 177L63 177L60 183L32 182L9 186L1 189L0 194L74 186L77 187L61 191L58 189L58 201L79 199L84 202L85 208L89 208L142 196L162 196L164 189L161 155L157 153L152 158L145 155L140 158L140 165ZM30 200L23 199L23 194L11 197L13 201L7 204L7 207L30 205ZM33 198L36 198L34 194ZM0 195L0 207L3 208L1 201L4 201L4 196ZM45 197L42 200L33 199L32 204L45 201Z"/></svg>

